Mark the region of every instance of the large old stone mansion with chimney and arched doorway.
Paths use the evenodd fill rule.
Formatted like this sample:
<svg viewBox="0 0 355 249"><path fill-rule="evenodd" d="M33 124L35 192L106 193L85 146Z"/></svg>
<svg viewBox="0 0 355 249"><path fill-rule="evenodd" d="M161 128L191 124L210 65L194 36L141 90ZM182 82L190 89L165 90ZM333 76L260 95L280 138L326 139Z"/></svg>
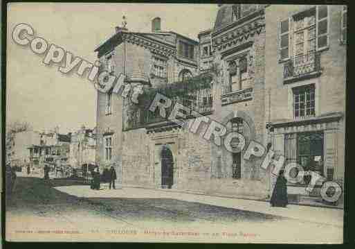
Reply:
<svg viewBox="0 0 355 249"><path fill-rule="evenodd" d="M95 49L106 69L149 89L210 71L211 66L202 69L203 62L215 64L218 72L212 74L210 87L191 92L189 106L264 144L264 6L220 6L215 26L200 33L200 44L160 31L156 20L152 23L152 33L116 28ZM164 69L157 77L159 63ZM244 161L242 153L229 153L202 138L206 124L202 132L192 134L145 115L117 94L98 92L97 128L100 169L115 164L122 184L266 194L264 175L255 164Z"/></svg>

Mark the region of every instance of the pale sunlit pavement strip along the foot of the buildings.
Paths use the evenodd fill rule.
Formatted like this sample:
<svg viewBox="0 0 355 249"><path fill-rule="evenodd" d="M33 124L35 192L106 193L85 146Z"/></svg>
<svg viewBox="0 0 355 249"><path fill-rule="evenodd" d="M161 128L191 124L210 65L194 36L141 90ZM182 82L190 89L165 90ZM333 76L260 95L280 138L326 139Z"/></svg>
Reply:
<svg viewBox="0 0 355 249"><path fill-rule="evenodd" d="M82 198L170 198L343 227L343 209L309 207L305 205L288 205L287 208L271 207L269 203L260 200L190 194L172 189L138 189L136 187L123 187L122 189L102 189L101 191L93 191L88 186L66 186L55 187L55 189Z"/></svg>

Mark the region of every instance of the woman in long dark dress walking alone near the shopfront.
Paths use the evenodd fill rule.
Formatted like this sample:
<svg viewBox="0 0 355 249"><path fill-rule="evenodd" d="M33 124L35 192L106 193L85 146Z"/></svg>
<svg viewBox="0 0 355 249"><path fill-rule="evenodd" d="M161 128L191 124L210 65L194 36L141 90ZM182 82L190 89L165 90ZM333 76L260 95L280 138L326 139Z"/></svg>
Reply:
<svg viewBox="0 0 355 249"><path fill-rule="evenodd" d="M286 178L284 178L284 171L281 170L276 180L275 187L273 188L273 195L271 196L271 207L286 207L289 203L287 199L287 186Z"/></svg>

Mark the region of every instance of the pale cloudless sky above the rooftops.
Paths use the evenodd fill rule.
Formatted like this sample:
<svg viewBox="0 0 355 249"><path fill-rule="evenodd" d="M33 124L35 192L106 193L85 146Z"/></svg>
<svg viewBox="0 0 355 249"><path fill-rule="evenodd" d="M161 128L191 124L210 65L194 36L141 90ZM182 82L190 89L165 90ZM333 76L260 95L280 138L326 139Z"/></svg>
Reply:
<svg viewBox="0 0 355 249"><path fill-rule="evenodd" d="M65 75L57 65L46 66L44 55L20 46L11 37L19 23L29 24L35 36L61 46L73 55L95 62L93 51L121 25L134 32L150 32L151 20L161 17L161 29L197 40L211 28L217 4L153 3L9 3L6 69L6 121L26 121L34 130L73 132L95 127L96 92L87 78Z"/></svg>

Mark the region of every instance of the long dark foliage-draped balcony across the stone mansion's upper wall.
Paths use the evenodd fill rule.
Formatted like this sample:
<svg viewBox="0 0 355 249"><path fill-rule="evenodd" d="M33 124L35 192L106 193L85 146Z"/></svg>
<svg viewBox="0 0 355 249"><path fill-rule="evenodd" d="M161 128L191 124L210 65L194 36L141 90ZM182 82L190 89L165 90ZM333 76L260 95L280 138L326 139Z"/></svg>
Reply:
<svg viewBox="0 0 355 249"><path fill-rule="evenodd" d="M160 125L162 123L171 123L167 117L172 112L174 105L180 103L189 108L189 112L185 113L187 118L194 117L193 112L202 115L212 113L212 89L210 82L212 77L194 77L184 82L167 84L164 87L149 89L148 92L142 94L139 98L138 105L130 105L125 112L124 123L125 130L136 128L146 128L147 126ZM167 117L161 117L158 109L156 112L149 110L150 103L154 99L156 93L161 93L172 100L170 108L165 109ZM181 112L184 112L181 110Z"/></svg>

